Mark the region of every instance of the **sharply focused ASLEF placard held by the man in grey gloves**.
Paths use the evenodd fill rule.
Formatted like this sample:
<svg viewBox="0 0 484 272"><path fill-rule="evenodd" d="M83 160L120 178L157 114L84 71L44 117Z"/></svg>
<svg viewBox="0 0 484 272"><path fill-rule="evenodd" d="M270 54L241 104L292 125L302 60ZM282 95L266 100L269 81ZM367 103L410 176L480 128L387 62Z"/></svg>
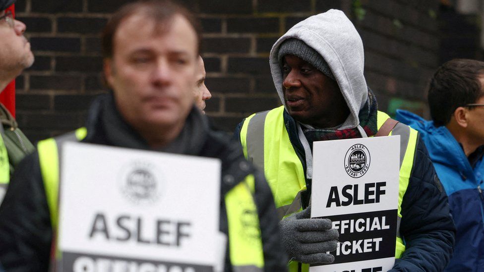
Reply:
<svg viewBox="0 0 484 272"><path fill-rule="evenodd" d="M340 233L333 264L311 272L388 271L395 262L400 136L314 142L311 217Z"/></svg>

